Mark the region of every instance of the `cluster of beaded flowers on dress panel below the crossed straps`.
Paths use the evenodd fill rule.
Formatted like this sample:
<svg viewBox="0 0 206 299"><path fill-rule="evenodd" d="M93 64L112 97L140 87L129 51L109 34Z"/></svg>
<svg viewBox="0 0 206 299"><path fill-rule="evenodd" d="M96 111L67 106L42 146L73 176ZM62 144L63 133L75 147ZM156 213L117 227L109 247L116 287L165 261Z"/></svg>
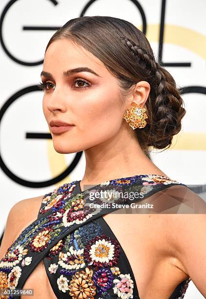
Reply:
<svg viewBox="0 0 206 299"><path fill-rule="evenodd" d="M59 253L57 285L61 292L72 299L110 298L108 291L117 298L133 298L134 282L117 266L121 246L103 234L96 220L80 227L68 241L67 248ZM53 263L48 267L51 274L56 273L54 268Z"/></svg>

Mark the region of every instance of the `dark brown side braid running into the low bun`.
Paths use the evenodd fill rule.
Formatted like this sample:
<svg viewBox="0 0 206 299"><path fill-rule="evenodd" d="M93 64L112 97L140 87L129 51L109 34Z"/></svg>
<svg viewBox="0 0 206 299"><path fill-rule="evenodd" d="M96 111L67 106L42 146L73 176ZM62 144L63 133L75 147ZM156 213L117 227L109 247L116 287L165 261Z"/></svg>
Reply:
<svg viewBox="0 0 206 299"><path fill-rule="evenodd" d="M150 95L145 103L148 114L148 126L139 134L140 143L157 149L168 148L174 135L181 129L181 120L185 115L184 103L171 74L155 61L153 55L128 38L122 40L146 73L150 83ZM144 146L144 147L145 147Z"/></svg>

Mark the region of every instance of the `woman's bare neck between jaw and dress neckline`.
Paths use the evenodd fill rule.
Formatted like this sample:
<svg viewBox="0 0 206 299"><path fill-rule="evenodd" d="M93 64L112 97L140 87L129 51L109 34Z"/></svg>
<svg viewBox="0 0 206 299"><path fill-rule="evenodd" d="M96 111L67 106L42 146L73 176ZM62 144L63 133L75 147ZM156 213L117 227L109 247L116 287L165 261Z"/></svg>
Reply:
<svg viewBox="0 0 206 299"><path fill-rule="evenodd" d="M138 140L130 136L116 136L84 151L86 159L83 185L98 185L115 178L140 174L160 174L161 171L141 149Z"/></svg>

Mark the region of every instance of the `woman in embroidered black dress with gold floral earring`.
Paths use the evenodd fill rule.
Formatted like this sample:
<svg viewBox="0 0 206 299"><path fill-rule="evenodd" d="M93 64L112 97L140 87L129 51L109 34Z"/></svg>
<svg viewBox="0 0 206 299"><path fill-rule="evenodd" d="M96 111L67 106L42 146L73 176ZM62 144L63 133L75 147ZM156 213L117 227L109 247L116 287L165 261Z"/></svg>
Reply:
<svg viewBox="0 0 206 299"><path fill-rule="evenodd" d="M205 203L149 158L150 146L170 146L185 109L144 34L112 17L70 20L46 47L41 79L55 150L84 150L86 168L81 181L11 209L1 289L34 289L35 299L177 299L192 279L206 296L206 217L189 215ZM154 209L94 207L129 202L108 190L141 191L144 199L129 200ZM93 200L94 191L106 196Z"/></svg>

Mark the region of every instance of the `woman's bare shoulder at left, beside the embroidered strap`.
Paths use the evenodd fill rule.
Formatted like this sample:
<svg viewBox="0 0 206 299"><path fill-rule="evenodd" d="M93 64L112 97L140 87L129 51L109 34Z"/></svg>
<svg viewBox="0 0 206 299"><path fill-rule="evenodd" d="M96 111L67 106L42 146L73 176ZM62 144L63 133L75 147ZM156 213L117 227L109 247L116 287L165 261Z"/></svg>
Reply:
<svg viewBox="0 0 206 299"><path fill-rule="evenodd" d="M43 195L23 199L11 208L0 246L0 259L23 229L37 219L42 197Z"/></svg>

